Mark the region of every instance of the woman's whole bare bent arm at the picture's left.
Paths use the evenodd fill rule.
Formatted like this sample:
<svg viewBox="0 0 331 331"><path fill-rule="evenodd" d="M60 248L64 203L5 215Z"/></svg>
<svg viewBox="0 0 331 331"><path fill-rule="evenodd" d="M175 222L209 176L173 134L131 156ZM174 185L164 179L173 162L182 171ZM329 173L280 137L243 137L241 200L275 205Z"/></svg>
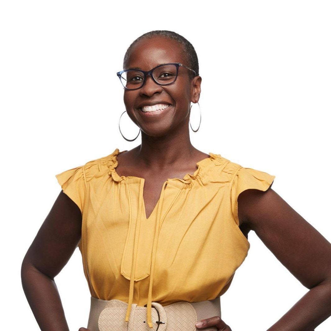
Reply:
<svg viewBox="0 0 331 331"><path fill-rule="evenodd" d="M23 259L23 290L42 331L69 331L54 277L76 249L81 224L80 209L61 191Z"/></svg>

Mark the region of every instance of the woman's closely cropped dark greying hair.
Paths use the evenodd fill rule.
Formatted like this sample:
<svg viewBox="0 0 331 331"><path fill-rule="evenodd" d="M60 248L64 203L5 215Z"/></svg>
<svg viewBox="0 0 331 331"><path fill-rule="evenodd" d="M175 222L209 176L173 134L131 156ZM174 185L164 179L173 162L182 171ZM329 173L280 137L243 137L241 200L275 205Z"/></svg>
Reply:
<svg viewBox="0 0 331 331"><path fill-rule="evenodd" d="M143 38L152 38L154 36L162 36L177 41L182 46L182 55L185 57L187 61L187 66L196 72L195 75L193 71L189 70L190 80L193 79L195 76L199 76L199 61L193 45L180 34L168 30L154 30L154 31L146 32L142 34L140 37L138 37L136 40L134 40L129 46L129 48L126 50L126 53L124 55L123 69L127 67L127 61L133 45Z"/></svg>

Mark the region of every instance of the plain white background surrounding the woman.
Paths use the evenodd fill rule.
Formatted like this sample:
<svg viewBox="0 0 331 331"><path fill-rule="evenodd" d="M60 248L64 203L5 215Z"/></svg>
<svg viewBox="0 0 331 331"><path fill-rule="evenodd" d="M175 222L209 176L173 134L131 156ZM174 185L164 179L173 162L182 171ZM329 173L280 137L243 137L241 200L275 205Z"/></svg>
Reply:
<svg viewBox="0 0 331 331"><path fill-rule="evenodd" d="M60 193L55 174L140 144L119 133L125 108L116 72L130 43L151 30L183 35L198 54L202 122L192 144L275 175L272 188L331 241L329 1L0 6L2 329L39 329L20 268ZM131 128L126 135L135 137L138 128ZM255 233L249 241L221 297L233 331L266 330L308 291ZM78 248L55 281L70 330L86 327L90 293ZM316 328L330 329L331 318Z"/></svg>

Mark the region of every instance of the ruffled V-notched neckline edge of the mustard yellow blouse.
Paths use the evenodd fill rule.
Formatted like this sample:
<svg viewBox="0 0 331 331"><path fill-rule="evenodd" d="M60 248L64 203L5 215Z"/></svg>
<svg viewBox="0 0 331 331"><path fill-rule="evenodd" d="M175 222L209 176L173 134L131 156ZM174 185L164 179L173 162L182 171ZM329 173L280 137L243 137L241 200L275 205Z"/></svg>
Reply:
<svg viewBox="0 0 331 331"><path fill-rule="evenodd" d="M183 186L182 186L182 187L184 187L184 186L185 186L184 183L187 183L187 182L188 182L187 179L188 179L188 178L190 178L190 179L195 179L195 178L197 177L198 173L200 172L202 165L204 165L205 163L208 164L209 161L212 161L212 160L213 160L213 156L214 156L214 154L210 152L210 153L208 153L208 154L209 154L209 157L204 158L204 159L198 161L198 162L196 163L197 168L195 169L195 171L193 172L193 174L187 173L187 174L185 174L185 176L183 176L182 179L180 179L180 178L168 178L168 179L163 183L163 185L162 185L162 190L161 190L161 193L160 193L159 199L158 199L156 205L154 206L154 208L153 208L153 210L152 210L152 213L151 213L151 214L148 216L148 218L147 218L147 217L146 217L147 215L146 215L145 199L144 199L145 178L137 177L137 176L123 176L123 175L120 176L120 175L117 173L117 171L116 171L116 168L117 168L117 166L118 166L118 158L117 158L117 156L118 156L119 154L121 154L121 153L124 153L124 152L128 152L128 150L119 151L119 149L117 148L117 149L112 153L112 155L114 156L114 158L115 158L115 160L116 160L115 166L112 167L112 172L115 174L115 176L116 176L118 179L123 179L123 180L125 180L125 181L127 181L128 179L139 179L139 180L140 180L140 183L143 182L143 186L144 186L144 187L143 187L143 197L142 197L142 209L143 209L143 216L144 216L144 218L146 219L146 221L150 220L150 219L152 218L152 216L155 214L155 212L156 212L156 210L157 210L157 207L158 207L158 205L160 204L160 199L161 199L161 195L162 195L162 190L165 189L165 184L166 184L166 183L168 183L168 182L170 182L170 181L181 181L181 182L183 182ZM189 182L191 182L191 180L190 180Z"/></svg>

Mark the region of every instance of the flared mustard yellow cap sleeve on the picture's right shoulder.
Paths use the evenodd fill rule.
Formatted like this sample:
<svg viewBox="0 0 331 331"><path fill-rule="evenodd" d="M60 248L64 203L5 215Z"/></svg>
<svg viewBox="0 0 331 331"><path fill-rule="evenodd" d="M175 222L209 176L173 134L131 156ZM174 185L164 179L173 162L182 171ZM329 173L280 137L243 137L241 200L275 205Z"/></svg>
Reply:
<svg viewBox="0 0 331 331"><path fill-rule="evenodd" d="M266 191L271 187L275 176L267 172L259 171L252 168L240 166L234 173L231 185L231 208L234 219L239 225L238 218L238 196L241 192L248 189L257 189Z"/></svg>

